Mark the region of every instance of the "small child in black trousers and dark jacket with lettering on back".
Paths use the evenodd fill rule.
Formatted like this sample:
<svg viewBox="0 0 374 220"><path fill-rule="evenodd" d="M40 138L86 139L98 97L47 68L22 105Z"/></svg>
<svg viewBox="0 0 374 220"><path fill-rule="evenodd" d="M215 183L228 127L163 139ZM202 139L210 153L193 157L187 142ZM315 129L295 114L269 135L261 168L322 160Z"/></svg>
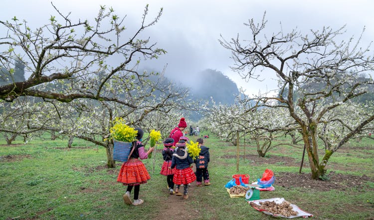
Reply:
<svg viewBox="0 0 374 220"><path fill-rule="evenodd" d="M196 142L198 143L201 149L198 155L198 158L195 160L196 186L197 187L202 186L202 178L204 178L204 185L209 186L211 184L209 182L209 173L208 173L208 163L210 161L209 148L202 145L204 143L202 138L198 138Z"/></svg>

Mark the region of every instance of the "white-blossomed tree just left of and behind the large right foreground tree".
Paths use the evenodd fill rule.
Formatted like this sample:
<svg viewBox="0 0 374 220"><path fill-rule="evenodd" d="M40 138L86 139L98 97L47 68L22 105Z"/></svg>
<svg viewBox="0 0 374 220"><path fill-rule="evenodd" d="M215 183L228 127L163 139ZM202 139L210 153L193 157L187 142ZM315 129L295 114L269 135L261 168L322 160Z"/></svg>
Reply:
<svg viewBox="0 0 374 220"><path fill-rule="evenodd" d="M255 104L248 104L243 99L245 95L239 95L234 105L213 105L208 111L209 130L234 145L238 143L238 137L248 137L256 143L257 153L265 157L266 153L279 145L292 145L273 141L283 137L286 133L297 132L298 126L289 116L286 109L259 108ZM294 146L294 145L292 145Z"/></svg>

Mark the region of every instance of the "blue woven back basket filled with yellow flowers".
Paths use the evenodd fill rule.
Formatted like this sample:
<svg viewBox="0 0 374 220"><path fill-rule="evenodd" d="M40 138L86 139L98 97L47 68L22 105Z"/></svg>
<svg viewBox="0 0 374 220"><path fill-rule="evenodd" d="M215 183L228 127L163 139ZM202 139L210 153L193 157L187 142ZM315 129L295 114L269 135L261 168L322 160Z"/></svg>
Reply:
<svg viewBox="0 0 374 220"><path fill-rule="evenodd" d="M132 142L136 140L138 131L126 125L123 118L115 118L109 129L110 139L113 139L113 160L126 162L129 159Z"/></svg>

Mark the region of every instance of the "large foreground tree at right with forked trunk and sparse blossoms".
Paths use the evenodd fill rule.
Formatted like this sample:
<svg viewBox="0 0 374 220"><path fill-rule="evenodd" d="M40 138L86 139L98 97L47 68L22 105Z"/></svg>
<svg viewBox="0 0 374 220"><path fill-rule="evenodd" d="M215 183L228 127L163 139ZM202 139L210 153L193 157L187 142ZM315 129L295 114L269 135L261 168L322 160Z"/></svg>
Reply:
<svg viewBox="0 0 374 220"><path fill-rule="evenodd" d="M245 23L251 31L250 39L241 40L237 35L227 41L221 36L220 43L231 51L235 61L232 69L243 79L256 79L261 74L258 70L264 69L278 78L279 96L260 94L254 99L264 107L288 109L300 126L312 179L317 180L326 173L331 155L373 123L373 113L360 115L320 160L318 139L321 129L326 124L337 123L337 120L325 120L327 115L340 106L348 108L352 104L350 100L367 93L367 85L374 83L371 77L360 78L360 74L373 73L373 50L371 44L360 47L362 35L357 40L351 37L338 41L344 27L337 30L324 27L305 35L293 29L289 33L279 31L262 37L266 22L265 14L260 23L250 19ZM342 124L346 123L345 117L340 119Z"/></svg>

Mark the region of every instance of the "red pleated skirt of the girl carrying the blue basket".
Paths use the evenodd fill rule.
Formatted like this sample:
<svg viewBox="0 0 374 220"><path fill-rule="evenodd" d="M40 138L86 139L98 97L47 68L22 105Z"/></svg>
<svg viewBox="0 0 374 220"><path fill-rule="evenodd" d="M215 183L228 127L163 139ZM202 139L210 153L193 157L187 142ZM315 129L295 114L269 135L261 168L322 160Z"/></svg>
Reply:
<svg viewBox="0 0 374 220"><path fill-rule="evenodd" d="M149 179L151 177L143 162L136 158L130 158L127 162L123 163L117 182L123 183L126 186L135 186L147 183Z"/></svg>

